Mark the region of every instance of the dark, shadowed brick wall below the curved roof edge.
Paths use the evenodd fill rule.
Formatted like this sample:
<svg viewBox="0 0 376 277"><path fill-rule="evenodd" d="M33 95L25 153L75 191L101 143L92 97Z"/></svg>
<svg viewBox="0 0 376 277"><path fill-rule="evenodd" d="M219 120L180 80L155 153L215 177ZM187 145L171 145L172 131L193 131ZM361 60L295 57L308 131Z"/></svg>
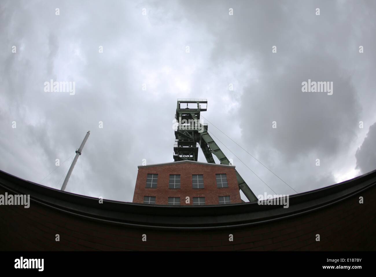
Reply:
<svg viewBox="0 0 376 277"><path fill-rule="evenodd" d="M4 193L0 188L0 194ZM359 196L364 197L364 204L359 204ZM28 209L0 206L0 250L376 250L375 197L376 187L372 187L303 216L210 231L133 229L33 202ZM60 235L60 242L55 241L55 234ZM316 234L320 242L315 241Z"/></svg>

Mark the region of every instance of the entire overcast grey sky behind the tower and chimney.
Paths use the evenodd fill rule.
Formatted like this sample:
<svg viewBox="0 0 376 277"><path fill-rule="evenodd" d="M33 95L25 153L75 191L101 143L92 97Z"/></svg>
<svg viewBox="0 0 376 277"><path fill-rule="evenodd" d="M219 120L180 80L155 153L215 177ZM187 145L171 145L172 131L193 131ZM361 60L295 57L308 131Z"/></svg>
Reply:
<svg viewBox="0 0 376 277"><path fill-rule="evenodd" d="M131 202L143 159L173 161L176 99L206 98L202 115L297 192L353 178L376 169L375 34L374 1L3 0L0 170L61 188L90 130L66 191ZM74 95L45 92L51 79ZM333 94L302 92L309 79ZM273 194L219 141L256 196Z"/></svg>

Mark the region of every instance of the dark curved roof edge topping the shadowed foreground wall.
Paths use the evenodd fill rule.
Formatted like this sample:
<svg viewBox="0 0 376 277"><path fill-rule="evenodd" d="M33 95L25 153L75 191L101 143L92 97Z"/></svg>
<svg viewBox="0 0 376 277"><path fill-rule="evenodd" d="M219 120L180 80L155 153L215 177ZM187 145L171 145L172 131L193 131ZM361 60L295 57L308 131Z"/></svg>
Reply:
<svg viewBox="0 0 376 277"><path fill-rule="evenodd" d="M210 229L259 224L327 207L374 187L376 170L348 181L289 198L289 208L258 205L181 206L144 205L81 196L23 180L0 170L0 187L12 194L30 194L31 204L39 203L64 213L111 224L138 228Z"/></svg>

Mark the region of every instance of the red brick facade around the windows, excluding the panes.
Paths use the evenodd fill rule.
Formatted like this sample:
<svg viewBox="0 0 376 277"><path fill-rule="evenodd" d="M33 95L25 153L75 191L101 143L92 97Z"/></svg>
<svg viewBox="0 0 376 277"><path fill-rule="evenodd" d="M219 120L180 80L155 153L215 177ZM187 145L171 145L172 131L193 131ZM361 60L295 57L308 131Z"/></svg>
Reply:
<svg viewBox="0 0 376 277"><path fill-rule="evenodd" d="M158 174L156 188L146 187L147 174ZM180 189L169 188L170 174L180 174ZM193 174L203 175L204 188L192 187ZM226 174L227 188L217 188L216 174ZM218 205L219 196L230 196L230 204L241 203L235 166L192 161L139 166L133 203L144 203L144 196L155 196L157 205L168 205L168 197L180 197L180 205L193 205L193 197L205 197L205 205Z"/></svg>

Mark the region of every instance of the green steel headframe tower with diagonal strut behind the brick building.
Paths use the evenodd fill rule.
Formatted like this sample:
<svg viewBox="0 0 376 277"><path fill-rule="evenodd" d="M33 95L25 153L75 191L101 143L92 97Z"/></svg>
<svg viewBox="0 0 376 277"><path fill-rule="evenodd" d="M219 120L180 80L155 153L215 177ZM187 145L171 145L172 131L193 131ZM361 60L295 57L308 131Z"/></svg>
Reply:
<svg viewBox="0 0 376 277"><path fill-rule="evenodd" d="M181 105L186 107L182 107ZM188 107L188 104L194 107ZM203 107L202 107L203 106ZM230 161L215 143L208 133L208 124L200 123L200 112L205 112L208 108L207 99L177 99L176 115L177 128L175 129L174 161L197 161L200 145L207 162L215 164L212 154L217 156L221 164L229 165ZM246 182L235 170L239 189L243 191L247 199L258 200L256 195L248 187Z"/></svg>

